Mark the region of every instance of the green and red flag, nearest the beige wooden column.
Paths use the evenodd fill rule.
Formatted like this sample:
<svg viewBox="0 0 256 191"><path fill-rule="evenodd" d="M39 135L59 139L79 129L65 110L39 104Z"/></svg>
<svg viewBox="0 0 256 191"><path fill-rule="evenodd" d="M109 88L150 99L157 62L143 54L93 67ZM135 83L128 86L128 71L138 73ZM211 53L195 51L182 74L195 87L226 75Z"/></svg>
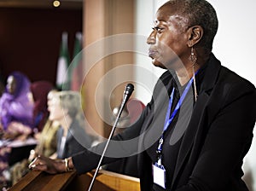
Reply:
<svg viewBox="0 0 256 191"><path fill-rule="evenodd" d="M82 54L82 33L77 32L74 49L73 49L73 61L68 68L70 78L70 89L79 91L83 84L83 54Z"/></svg>

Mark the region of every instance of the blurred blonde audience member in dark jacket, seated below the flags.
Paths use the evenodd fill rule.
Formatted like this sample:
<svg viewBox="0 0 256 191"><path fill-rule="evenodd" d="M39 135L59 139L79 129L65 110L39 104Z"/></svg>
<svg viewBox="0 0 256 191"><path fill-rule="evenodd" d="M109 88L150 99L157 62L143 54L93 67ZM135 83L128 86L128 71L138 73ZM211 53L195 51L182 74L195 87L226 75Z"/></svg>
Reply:
<svg viewBox="0 0 256 191"><path fill-rule="evenodd" d="M48 109L49 120L58 121L61 124L57 132L55 155L57 159L65 159L84 148L90 148L91 138L85 132L84 113L78 92L60 91L56 93Z"/></svg>

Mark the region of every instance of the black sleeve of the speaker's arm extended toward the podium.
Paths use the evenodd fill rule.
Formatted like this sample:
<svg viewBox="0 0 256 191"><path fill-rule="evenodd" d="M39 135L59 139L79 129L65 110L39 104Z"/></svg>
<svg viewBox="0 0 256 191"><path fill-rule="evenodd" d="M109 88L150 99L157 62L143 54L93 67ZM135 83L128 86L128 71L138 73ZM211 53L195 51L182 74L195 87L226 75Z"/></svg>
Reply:
<svg viewBox="0 0 256 191"><path fill-rule="evenodd" d="M143 113L135 124L131 124L125 131L113 136L108 144L102 165L137 154L138 136L141 133L144 119L148 115L149 110L150 104L143 109ZM85 149L83 152L73 155L73 165L79 174L96 168L106 142L101 142L92 148Z"/></svg>

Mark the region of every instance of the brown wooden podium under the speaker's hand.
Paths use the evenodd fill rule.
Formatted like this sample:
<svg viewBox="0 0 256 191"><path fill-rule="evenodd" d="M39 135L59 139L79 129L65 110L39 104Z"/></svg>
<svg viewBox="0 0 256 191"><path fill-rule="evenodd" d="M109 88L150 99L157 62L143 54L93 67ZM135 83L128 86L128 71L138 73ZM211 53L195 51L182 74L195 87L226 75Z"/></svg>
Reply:
<svg viewBox="0 0 256 191"><path fill-rule="evenodd" d="M77 175L75 171L49 175L42 171L30 171L9 191L87 191L94 171ZM100 170L91 191L139 191L139 179L111 171Z"/></svg>

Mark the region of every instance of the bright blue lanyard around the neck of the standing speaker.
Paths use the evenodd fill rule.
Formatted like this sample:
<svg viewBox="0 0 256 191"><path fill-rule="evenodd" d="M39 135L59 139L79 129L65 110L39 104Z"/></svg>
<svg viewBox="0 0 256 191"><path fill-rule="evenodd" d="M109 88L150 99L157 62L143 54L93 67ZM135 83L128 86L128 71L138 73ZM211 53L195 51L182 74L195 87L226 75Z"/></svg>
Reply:
<svg viewBox="0 0 256 191"><path fill-rule="evenodd" d="M198 71L197 71L198 72ZM196 72L196 73L197 73ZM177 111L179 110L179 108L181 107L183 100L185 98L185 96L188 94L189 92L189 88L191 87L191 84L193 82L193 78L190 78L189 83L187 84L185 90L183 91L182 96L180 97L179 101L177 101L177 105L174 108L171 116L171 108L172 108L172 101L173 101L173 96L174 96L174 88L172 89L172 94L170 96L170 100L169 100L169 106L167 109L167 113L166 113L166 120L165 120L165 125L164 125L164 129L162 132L162 136L160 137L160 141L159 141L159 146L157 148L157 153L161 153L162 150L162 144L164 142L164 132L168 129L169 125L172 123L172 120L174 119L175 115L177 114Z"/></svg>

